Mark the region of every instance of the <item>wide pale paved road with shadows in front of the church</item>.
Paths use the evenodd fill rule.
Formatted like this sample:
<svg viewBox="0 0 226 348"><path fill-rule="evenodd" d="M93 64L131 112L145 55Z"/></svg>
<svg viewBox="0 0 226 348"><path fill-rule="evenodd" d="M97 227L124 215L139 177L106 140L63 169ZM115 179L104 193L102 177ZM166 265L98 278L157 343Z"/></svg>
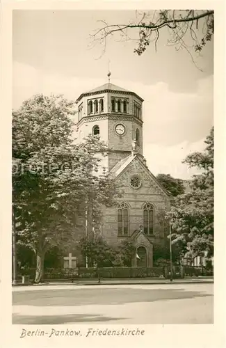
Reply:
<svg viewBox="0 0 226 348"><path fill-rule="evenodd" d="M13 324L212 324L213 284L13 288Z"/></svg>

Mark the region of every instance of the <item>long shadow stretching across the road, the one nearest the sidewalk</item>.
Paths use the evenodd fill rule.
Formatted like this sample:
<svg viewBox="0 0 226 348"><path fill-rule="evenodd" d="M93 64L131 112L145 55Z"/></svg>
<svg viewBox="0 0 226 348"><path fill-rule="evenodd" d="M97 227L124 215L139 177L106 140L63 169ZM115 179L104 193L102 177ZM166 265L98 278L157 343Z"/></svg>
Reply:
<svg viewBox="0 0 226 348"><path fill-rule="evenodd" d="M19 306L83 306L114 305L213 296L207 292L182 289L64 289L13 292L13 305Z"/></svg>

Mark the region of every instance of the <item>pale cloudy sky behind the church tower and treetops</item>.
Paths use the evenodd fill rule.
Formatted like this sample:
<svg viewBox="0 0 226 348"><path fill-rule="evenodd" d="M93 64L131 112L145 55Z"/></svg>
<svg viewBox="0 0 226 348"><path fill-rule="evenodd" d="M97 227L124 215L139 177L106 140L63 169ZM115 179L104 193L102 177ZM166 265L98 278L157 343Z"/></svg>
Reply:
<svg viewBox="0 0 226 348"><path fill-rule="evenodd" d="M14 10L13 109L35 93L76 100L108 81L143 97L143 147L150 171L190 179L197 173L181 161L204 149L213 125L213 42L196 58L167 45L134 54L136 41L108 40L106 49L90 35L108 24L137 21L135 10ZM132 29L130 37L136 38ZM189 38L188 38L189 40ZM188 41L189 44L189 41Z"/></svg>

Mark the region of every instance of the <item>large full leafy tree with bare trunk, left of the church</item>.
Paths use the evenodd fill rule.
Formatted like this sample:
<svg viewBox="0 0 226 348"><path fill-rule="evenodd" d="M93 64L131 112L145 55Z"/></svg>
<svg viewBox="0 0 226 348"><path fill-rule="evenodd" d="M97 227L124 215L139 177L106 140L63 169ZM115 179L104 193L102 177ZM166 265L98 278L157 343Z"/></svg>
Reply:
<svg viewBox="0 0 226 348"><path fill-rule="evenodd" d="M92 136L74 143L73 114L74 103L54 95L35 95L13 112L13 222L17 243L35 252L36 283L47 251L83 228L87 202L97 224L100 207L117 192L108 175L97 175L95 154L106 145Z"/></svg>

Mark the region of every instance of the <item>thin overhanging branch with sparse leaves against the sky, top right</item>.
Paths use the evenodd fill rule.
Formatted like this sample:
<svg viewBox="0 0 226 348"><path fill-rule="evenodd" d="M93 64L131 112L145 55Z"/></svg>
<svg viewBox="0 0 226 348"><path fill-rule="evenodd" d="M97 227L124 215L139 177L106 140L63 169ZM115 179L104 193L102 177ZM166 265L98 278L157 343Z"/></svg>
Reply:
<svg viewBox="0 0 226 348"><path fill-rule="evenodd" d="M173 45L177 50L186 49L193 59L193 52L201 52L214 33L213 10L154 10L149 13L137 12L136 17L136 22L126 24L108 24L101 20L102 28L91 38L104 43L105 47L108 37L118 33L122 40L138 42L134 53L140 56L152 42L157 49L159 37L167 29L167 45Z"/></svg>

